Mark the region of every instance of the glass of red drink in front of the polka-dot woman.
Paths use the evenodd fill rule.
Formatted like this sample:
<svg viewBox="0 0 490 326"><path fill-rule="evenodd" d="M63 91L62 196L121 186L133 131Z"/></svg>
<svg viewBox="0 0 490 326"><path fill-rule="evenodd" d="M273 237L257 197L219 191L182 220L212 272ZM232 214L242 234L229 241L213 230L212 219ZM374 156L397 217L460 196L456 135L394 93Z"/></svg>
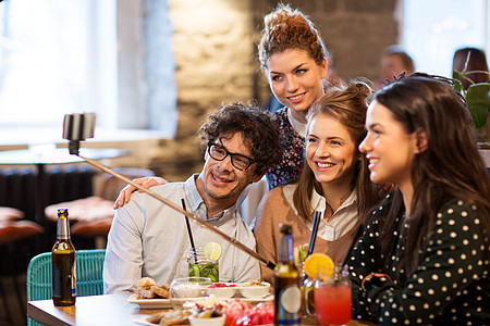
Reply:
<svg viewBox="0 0 490 326"><path fill-rule="evenodd" d="M320 269L315 281L315 316L320 325L346 325L351 321L351 280L347 265L333 274Z"/></svg>

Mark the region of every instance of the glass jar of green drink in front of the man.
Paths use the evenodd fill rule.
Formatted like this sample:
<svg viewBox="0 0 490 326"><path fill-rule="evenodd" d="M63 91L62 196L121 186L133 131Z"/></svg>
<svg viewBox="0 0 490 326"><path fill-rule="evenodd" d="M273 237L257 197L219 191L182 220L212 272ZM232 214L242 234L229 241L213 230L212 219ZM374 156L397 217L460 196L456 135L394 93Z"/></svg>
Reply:
<svg viewBox="0 0 490 326"><path fill-rule="evenodd" d="M196 248L196 252L191 248L177 267L177 277L186 276L209 277L217 283L219 281L218 261L208 259L200 247Z"/></svg>

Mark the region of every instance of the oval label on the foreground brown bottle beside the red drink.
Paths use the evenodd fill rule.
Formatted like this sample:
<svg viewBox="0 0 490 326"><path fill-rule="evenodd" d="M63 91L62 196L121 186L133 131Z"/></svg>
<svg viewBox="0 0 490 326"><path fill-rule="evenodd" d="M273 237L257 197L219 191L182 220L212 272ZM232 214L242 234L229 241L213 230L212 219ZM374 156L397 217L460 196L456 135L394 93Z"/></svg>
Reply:
<svg viewBox="0 0 490 326"><path fill-rule="evenodd" d="M297 285L285 287L279 294L279 325L299 325L302 291Z"/></svg>

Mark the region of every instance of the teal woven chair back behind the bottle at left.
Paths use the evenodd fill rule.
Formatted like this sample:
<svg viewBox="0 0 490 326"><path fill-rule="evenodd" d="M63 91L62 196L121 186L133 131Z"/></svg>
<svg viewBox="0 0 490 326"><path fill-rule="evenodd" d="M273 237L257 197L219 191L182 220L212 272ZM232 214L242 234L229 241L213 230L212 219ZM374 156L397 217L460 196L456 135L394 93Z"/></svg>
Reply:
<svg viewBox="0 0 490 326"><path fill-rule="evenodd" d="M97 296L103 293L102 268L106 249L75 251L76 296ZM34 256L27 267L27 302L52 298L51 252ZM38 325L27 318L28 325Z"/></svg>

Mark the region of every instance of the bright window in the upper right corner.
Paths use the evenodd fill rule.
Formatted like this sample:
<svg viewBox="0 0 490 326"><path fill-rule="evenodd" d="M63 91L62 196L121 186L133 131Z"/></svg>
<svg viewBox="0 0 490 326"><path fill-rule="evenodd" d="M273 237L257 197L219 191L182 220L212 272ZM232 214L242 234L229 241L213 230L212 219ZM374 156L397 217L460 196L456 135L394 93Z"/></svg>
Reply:
<svg viewBox="0 0 490 326"><path fill-rule="evenodd" d="M404 0L402 43L416 71L452 76L456 49L490 53L489 0Z"/></svg>

